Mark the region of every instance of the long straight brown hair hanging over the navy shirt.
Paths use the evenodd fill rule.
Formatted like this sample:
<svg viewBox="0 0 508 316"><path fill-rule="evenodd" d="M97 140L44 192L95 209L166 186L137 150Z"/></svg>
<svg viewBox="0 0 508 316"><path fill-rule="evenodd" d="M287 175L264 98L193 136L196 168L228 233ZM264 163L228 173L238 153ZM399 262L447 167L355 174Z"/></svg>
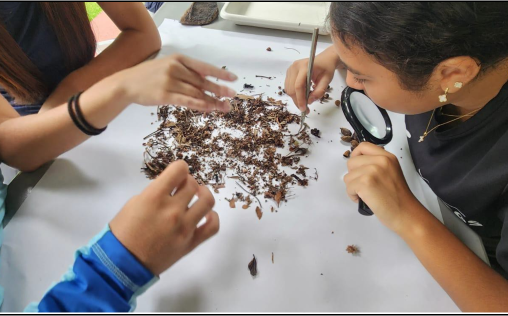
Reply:
<svg viewBox="0 0 508 316"><path fill-rule="evenodd" d="M84 2L39 2L64 53L69 72L95 56L96 41ZM0 85L16 102L42 101L51 93L43 75L0 22Z"/></svg>

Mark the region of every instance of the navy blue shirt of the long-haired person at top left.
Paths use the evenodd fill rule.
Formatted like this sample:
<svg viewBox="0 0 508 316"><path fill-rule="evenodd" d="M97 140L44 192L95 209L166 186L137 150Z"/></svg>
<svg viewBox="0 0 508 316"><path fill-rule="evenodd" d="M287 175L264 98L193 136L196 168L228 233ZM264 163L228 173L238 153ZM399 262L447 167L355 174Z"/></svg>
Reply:
<svg viewBox="0 0 508 316"><path fill-rule="evenodd" d="M41 71L49 91L70 73L64 63L64 53L58 38L37 2L0 2L0 21ZM13 98L0 87L0 93L21 115L35 114L40 104L14 104Z"/></svg>

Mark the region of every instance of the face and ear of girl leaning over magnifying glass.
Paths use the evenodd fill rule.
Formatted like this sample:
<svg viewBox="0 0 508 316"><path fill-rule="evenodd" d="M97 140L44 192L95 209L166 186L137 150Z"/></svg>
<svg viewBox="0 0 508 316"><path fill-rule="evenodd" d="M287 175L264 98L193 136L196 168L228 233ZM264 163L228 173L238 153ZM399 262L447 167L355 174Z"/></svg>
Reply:
<svg viewBox="0 0 508 316"><path fill-rule="evenodd" d="M443 94L439 85L432 84L422 92L404 90L392 71L378 64L362 49L347 48L334 37L335 51L347 69L346 83L354 89L363 90L379 107L402 114L421 114L442 106L438 96Z"/></svg>

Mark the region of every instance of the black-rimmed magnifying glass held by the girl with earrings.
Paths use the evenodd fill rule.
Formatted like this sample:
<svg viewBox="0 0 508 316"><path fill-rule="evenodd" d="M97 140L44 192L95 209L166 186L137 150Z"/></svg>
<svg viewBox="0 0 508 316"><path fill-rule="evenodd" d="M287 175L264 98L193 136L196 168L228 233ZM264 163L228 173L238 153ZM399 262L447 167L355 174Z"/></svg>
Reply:
<svg viewBox="0 0 508 316"><path fill-rule="evenodd" d="M341 97L342 111L360 142L386 145L393 138L392 121L386 110L378 107L361 90L346 87ZM372 210L360 199L358 212L372 216Z"/></svg>

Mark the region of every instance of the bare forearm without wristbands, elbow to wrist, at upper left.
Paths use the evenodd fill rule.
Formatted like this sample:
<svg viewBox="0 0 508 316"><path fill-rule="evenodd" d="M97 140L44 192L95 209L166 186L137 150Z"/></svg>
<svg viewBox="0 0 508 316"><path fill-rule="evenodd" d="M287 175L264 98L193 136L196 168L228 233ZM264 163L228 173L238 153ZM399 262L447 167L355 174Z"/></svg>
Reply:
<svg viewBox="0 0 508 316"><path fill-rule="evenodd" d="M123 30L99 56L67 76L43 104L40 113L59 106L75 93L87 90L116 72L139 64L159 51L160 47L161 40L157 29Z"/></svg>

